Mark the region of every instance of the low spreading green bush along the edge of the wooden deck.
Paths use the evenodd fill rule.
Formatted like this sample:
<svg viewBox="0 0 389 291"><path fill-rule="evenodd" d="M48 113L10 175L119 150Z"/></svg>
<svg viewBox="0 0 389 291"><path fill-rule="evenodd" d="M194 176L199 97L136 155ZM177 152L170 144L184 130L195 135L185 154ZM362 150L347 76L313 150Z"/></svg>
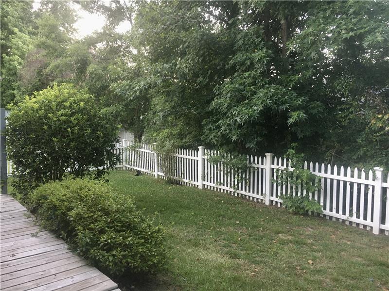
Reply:
<svg viewBox="0 0 389 291"><path fill-rule="evenodd" d="M85 259L110 275L153 273L165 258L164 231L128 196L97 180L46 183L29 195L32 212Z"/></svg>

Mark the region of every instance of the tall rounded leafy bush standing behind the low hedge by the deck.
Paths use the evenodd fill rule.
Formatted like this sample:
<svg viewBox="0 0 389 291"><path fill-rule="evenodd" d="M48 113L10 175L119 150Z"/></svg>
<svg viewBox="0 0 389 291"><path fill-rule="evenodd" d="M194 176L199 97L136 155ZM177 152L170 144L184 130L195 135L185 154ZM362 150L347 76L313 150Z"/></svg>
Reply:
<svg viewBox="0 0 389 291"><path fill-rule="evenodd" d="M66 172L95 178L113 169L119 156L117 123L106 109L72 84L54 85L11 107L7 152L15 166L16 190L61 180Z"/></svg>

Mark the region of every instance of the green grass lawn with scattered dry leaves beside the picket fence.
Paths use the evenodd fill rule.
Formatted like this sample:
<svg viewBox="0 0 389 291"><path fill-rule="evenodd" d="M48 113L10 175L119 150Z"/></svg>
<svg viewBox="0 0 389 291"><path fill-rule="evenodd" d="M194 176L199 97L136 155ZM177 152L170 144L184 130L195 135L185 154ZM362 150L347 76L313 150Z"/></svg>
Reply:
<svg viewBox="0 0 389 291"><path fill-rule="evenodd" d="M166 228L166 270L130 290L389 290L387 236L128 171L109 180Z"/></svg>

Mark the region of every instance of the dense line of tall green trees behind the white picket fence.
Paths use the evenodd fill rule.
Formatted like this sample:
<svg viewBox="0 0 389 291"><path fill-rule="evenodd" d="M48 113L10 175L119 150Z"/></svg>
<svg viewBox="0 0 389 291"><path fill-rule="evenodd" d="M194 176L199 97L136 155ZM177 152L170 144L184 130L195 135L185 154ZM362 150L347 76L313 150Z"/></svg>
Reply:
<svg viewBox="0 0 389 291"><path fill-rule="evenodd" d="M2 2L2 104L71 82L138 139L389 168L388 2L77 3L102 32L75 39L69 2Z"/></svg>

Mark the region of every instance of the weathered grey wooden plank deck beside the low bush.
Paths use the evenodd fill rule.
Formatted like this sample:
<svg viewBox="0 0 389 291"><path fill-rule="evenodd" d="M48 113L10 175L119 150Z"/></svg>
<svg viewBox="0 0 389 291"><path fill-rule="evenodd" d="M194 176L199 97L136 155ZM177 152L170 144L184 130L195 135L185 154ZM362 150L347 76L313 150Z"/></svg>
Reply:
<svg viewBox="0 0 389 291"><path fill-rule="evenodd" d="M120 291L34 219L14 198L0 195L0 290Z"/></svg>

